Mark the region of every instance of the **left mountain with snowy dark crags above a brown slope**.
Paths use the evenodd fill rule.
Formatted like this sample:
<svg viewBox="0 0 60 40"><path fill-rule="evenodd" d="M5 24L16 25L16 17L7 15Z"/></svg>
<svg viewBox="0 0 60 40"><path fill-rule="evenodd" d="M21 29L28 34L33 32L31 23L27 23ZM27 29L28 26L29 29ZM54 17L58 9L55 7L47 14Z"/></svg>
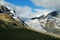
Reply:
<svg viewBox="0 0 60 40"><path fill-rule="evenodd" d="M15 16L15 11L8 9L4 5L0 5L0 27L9 28L24 28L26 24L20 18Z"/></svg>

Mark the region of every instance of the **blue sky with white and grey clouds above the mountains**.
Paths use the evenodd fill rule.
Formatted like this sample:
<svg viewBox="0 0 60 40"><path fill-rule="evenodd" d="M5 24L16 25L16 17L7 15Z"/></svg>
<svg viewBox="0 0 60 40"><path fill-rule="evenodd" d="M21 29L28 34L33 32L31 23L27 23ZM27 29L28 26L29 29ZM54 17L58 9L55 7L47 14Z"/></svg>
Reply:
<svg viewBox="0 0 60 40"><path fill-rule="evenodd" d="M19 16L35 17L60 10L60 0L4 0L14 5ZM7 3L8 4L8 3Z"/></svg>

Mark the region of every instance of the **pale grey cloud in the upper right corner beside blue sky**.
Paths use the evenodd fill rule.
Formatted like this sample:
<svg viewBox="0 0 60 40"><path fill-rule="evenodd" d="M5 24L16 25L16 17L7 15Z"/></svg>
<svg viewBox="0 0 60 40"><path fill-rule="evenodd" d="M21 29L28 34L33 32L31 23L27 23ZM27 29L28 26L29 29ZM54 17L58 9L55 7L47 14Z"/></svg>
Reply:
<svg viewBox="0 0 60 40"><path fill-rule="evenodd" d="M36 6L60 9L60 0L31 0Z"/></svg>

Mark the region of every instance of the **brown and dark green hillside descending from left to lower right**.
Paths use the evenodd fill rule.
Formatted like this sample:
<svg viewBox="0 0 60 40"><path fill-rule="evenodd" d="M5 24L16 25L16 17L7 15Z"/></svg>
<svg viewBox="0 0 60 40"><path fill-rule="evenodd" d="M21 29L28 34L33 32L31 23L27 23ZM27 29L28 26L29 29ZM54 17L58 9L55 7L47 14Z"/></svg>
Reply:
<svg viewBox="0 0 60 40"><path fill-rule="evenodd" d="M0 40L60 40L60 36L39 32L15 17L14 11L0 7ZM48 35L49 34L49 35Z"/></svg>

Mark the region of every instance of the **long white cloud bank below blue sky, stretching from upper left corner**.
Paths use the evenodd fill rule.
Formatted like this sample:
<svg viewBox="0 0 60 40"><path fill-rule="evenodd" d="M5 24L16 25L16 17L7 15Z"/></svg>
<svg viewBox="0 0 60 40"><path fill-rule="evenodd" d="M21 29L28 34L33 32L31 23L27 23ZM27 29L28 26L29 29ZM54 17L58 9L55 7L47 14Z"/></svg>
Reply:
<svg viewBox="0 0 60 40"><path fill-rule="evenodd" d="M31 17L35 17L35 16L40 16L41 14L46 14L48 12L50 12L50 10L47 10L47 9L33 9L35 10L36 12L33 12L32 11L32 8L29 7L29 6L16 6L16 5L13 5L9 2L5 2L5 1L1 1L1 4L5 5L5 6L8 6L10 7L11 9L15 9L16 10L16 14L20 17L27 17L27 18L31 18Z"/></svg>

